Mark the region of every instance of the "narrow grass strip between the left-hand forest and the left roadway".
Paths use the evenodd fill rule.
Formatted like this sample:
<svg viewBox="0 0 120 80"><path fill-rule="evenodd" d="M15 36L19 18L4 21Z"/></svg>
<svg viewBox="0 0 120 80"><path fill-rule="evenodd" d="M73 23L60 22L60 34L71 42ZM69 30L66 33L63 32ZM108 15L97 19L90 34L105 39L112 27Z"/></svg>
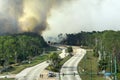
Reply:
<svg viewBox="0 0 120 80"><path fill-rule="evenodd" d="M17 74L19 73L20 71L22 71L23 69L27 68L27 67L32 67L32 66L35 66L45 60L47 60L48 58L48 55L42 55L42 56L37 56L35 59L33 59L31 61L31 63L25 63L25 64L19 64L19 65L13 65L13 68L11 70L8 70L7 72L3 72L2 74L8 74L8 73L11 73L11 74Z"/></svg>

